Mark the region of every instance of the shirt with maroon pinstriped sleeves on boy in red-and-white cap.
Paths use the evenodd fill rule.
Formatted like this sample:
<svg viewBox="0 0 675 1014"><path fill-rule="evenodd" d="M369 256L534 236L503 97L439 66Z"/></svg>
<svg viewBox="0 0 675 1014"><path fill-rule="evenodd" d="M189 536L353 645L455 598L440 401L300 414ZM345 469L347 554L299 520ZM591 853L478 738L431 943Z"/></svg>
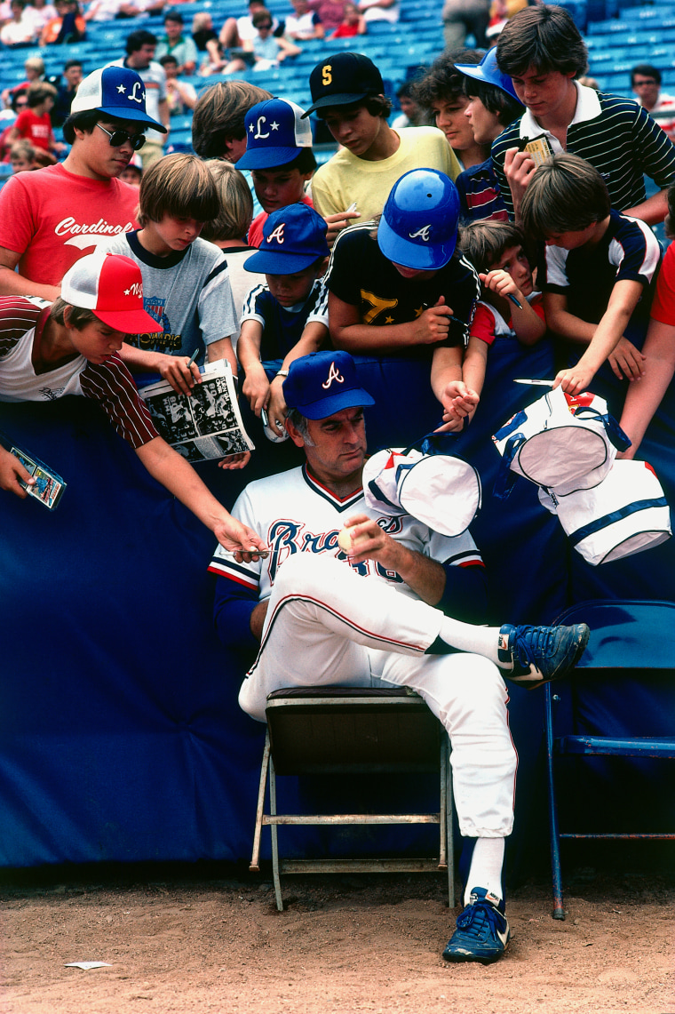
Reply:
<svg viewBox="0 0 675 1014"><path fill-rule="evenodd" d="M77 356L47 373L35 373L33 346L40 344L50 307L36 296L0 296L0 402L51 402L83 394L100 403L132 447L149 443L157 430L118 355L100 365Z"/></svg>

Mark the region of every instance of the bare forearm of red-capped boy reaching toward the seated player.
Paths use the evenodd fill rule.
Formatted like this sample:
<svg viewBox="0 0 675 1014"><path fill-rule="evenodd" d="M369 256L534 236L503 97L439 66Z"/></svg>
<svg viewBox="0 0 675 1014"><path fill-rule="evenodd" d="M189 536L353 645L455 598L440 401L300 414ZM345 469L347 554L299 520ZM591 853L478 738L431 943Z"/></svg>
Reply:
<svg viewBox="0 0 675 1014"><path fill-rule="evenodd" d="M233 553L239 562L254 559L266 550L260 537L225 510L192 464L161 437L138 447L136 453L153 479L192 510L213 531L223 549Z"/></svg>

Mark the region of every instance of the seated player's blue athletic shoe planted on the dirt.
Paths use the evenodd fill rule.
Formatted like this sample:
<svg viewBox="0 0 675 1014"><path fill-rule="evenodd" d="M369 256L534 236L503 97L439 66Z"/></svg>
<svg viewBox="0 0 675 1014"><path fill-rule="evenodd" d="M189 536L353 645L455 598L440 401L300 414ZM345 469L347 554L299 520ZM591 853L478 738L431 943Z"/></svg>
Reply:
<svg viewBox="0 0 675 1014"><path fill-rule="evenodd" d="M484 887L473 887L469 903L457 920L443 957L446 961L481 961L490 964L504 954L511 939L504 901Z"/></svg>

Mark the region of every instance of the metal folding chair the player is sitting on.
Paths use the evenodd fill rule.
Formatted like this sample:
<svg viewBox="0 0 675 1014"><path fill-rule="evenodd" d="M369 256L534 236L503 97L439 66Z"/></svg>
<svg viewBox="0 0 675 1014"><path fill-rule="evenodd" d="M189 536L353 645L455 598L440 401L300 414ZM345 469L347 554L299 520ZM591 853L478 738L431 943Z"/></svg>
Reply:
<svg viewBox="0 0 675 1014"><path fill-rule="evenodd" d="M438 872L448 875L454 908L452 788L448 737L421 697L405 687L307 686L276 691L268 698L268 733L255 818L250 870L259 869L260 836L270 825L277 908L284 909L282 873ZM278 812L277 776L436 773L439 810L434 813ZM270 812L265 812L270 780ZM439 852L432 858L309 859L279 857L280 824L439 825Z"/></svg>

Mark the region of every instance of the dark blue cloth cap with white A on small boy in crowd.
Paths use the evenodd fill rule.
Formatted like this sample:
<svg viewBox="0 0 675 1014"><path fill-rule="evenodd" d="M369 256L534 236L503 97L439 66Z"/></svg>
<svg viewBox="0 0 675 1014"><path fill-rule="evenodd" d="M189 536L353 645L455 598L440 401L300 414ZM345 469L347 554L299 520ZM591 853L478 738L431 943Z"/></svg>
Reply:
<svg viewBox="0 0 675 1014"><path fill-rule="evenodd" d="M328 226L308 204L288 204L273 211L262 226L257 254L244 261L245 271L293 275L328 256Z"/></svg>

